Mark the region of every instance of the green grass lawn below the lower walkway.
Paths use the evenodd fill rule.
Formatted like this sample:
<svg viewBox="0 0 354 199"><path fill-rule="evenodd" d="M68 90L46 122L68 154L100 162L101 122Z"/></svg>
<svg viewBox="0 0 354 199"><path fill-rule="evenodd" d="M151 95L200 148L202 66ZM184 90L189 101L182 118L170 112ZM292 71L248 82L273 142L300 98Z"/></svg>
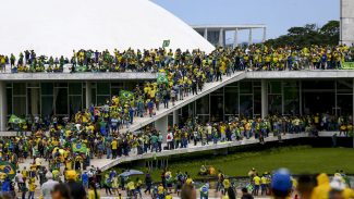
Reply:
<svg viewBox="0 0 354 199"><path fill-rule="evenodd" d="M354 174L354 149L350 148L312 148L308 146L271 148L258 152L240 152L229 156L208 156L198 159L185 159L169 164L169 170L187 171L196 177L202 164L212 165L229 176L246 176L252 167L259 173L288 167L293 174L333 174L337 170ZM155 181L160 181L161 171L154 171Z"/></svg>

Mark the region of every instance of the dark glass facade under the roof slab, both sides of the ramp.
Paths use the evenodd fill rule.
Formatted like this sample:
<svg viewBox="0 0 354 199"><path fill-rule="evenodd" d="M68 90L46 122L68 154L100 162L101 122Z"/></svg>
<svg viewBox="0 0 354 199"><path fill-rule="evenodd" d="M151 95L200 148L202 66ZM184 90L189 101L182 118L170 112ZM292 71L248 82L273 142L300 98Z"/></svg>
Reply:
<svg viewBox="0 0 354 199"><path fill-rule="evenodd" d="M141 82L90 84L91 102L101 105L122 89L135 87ZM352 79L267 80L266 86L269 114L350 115L353 112ZM260 80L232 83L183 107L179 112L180 121L197 119L206 123L240 115L260 116L261 89ZM72 115L86 107L86 83L8 83L7 100L8 115Z"/></svg>

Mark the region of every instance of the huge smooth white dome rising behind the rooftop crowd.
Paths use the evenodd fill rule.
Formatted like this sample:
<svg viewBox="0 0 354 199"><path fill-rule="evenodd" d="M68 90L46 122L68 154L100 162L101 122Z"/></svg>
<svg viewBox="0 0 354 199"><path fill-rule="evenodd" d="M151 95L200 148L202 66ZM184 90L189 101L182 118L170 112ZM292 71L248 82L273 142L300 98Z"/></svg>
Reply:
<svg viewBox="0 0 354 199"><path fill-rule="evenodd" d="M149 0L4 0L1 8L0 54L71 57L74 49L151 49L163 40L171 49L215 48Z"/></svg>

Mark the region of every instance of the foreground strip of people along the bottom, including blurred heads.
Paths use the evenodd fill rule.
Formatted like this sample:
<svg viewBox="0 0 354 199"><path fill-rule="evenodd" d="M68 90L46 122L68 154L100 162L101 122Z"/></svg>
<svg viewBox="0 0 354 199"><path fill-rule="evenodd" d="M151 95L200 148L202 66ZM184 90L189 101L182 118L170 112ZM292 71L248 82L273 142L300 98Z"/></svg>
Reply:
<svg viewBox="0 0 354 199"><path fill-rule="evenodd" d="M123 174L123 173L122 173ZM164 169L161 179L154 182L149 172L145 177L125 176L118 174L114 170L102 173L95 167L88 172L77 173L73 170L64 171L64 179L54 171L44 170L39 174L40 191L39 198L44 199L99 199L102 188L107 196L127 198L154 198L172 199L173 196L181 199L207 199L217 196L221 199L253 199L254 197L273 197L280 199L351 199L354 190L351 181L343 171L338 171L333 176L327 174L292 176L285 169L273 172L265 172L259 175L255 169L248 172L247 179L233 178L223 174L217 174L213 179L194 182L187 172L178 171L173 173ZM34 198L36 179L38 174L33 171L19 171L15 182L9 178L1 181L1 198ZM42 179L41 179L42 178ZM17 188L15 188L17 186ZM144 195L143 195L144 192ZM240 196L241 194L241 196Z"/></svg>

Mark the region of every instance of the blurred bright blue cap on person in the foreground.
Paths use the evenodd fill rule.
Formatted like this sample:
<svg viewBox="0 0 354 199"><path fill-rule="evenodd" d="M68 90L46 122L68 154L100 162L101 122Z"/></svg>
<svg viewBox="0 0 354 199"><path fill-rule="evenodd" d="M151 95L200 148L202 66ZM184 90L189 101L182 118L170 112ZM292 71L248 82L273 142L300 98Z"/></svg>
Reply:
<svg viewBox="0 0 354 199"><path fill-rule="evenodd" d="M288 191L293 187L290 173L286 169L278 170L271 179L271 188L279 191Z"/></svg>

